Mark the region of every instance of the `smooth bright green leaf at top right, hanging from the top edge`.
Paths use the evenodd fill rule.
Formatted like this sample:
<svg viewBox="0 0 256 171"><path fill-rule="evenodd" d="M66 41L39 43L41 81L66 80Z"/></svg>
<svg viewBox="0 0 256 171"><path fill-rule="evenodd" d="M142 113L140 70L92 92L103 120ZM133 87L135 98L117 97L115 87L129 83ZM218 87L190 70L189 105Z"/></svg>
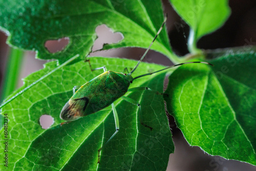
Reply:
<svg viewBox="0 0 256 171"><path fill-rule="evenodd" d="M220 28L230 15L226 0L170 0L170 2L193 29L194 41Z"/></svg>

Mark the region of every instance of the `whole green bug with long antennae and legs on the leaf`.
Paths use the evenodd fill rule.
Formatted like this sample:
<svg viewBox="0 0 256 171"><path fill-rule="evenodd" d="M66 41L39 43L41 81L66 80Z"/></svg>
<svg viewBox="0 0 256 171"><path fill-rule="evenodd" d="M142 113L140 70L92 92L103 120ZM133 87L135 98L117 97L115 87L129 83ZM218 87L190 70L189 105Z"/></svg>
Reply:
<svg viewBox="0 0 256 171"><path fill-rule="evenodd" d="M165 22L166 22L166 17L164 19L162 26L158 30L154 40L151 42L150 46L146 49L145 53L142 55L142 57L138 61L137 65L134 67L134 69L129 74L118 73L118 72L114 72L114 71L110 71L110 70L108 71L106 69L106 67L92 69L90 60L87 60L89 62L89 65L90 65L90 68L92 71L103 69L104 72L102 74L98 75L97 77L93 78L92 80L88 81L87 83L83 84L83 86L79 86L80 88L78 86L75 86L73 88L73 96L63 106L63 108L60 112L61 119L66 120L66 121L73 121L80 117L96 113L96 112L106 108L107 106L112 105L114 118L115 118L116 131L110 137L110 139L104 145L102 145L100 149L98 149L98 163L100 160L101 149L108 142L110 142L110 140L117 134L117 132L119 130L118 115L117 115L117 111L115 109L115 105L113 103L117 99L122 98L125 101L128 101L134 105L137 105L139 107L139 111L140 111L141 124L152 130L151 126L148 126L143 123L140 104L137 101L135 101L129 97L125 97L124 95L126 92L143 91L143 90L152 91L159 95L163 95L163 93L159 93L158 91L154 91L147 87L138 87L138 88L129 89L130 84L135 79L146 76L146 75L152 75L154 73L161 72L163 70L167 70L172 67L181 66L181 65L184 65L187 63L206 63L208 65L211 65L210 63L200 62L200 61L185 62L185 63L179 63L178 65L166 67L159 71L143 74L143 75L133 78L132 73L137 69L137 67L139 66L140 62L142 61L142 59L144 58L144 56L146 55L148 50L150 50L153 42L157 38L158 34L161 32ZM125 68L125 69L127 71L127 68ZM97 85L97 86L95 86L95 85ZM75 91L77 88L79 88L79 89L77 91Z"/></svg>

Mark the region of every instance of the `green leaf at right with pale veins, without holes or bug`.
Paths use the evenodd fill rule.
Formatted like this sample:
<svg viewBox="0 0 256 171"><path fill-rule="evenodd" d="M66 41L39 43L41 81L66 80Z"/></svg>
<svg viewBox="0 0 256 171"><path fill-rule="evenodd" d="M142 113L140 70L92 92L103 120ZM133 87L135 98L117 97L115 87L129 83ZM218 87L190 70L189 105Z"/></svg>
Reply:
<svg viewBox="0 0 256 171"><path fill-rule="evenodd" d="M256 54L228 55L177 69L167 109L190 145L256 165Z"/></svg>

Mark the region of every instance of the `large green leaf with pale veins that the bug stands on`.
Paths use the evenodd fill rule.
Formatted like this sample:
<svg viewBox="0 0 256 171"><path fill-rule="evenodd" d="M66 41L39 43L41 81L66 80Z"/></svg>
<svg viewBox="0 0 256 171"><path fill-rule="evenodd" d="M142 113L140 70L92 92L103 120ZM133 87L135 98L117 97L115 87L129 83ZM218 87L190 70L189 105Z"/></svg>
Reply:
<svg viewBox="0 0 256 171"><path fill-rule="evenodd" d="M137 61L117 58L90 58L93 68L122 72ZM56 67L49 62L45 69L25 78L25 86ZM162 69L162 66L141 63L134 76ZM59 118L63 105L72 96L72 88L81 85L102 71L91 72L88 62L63 67L7 104L2 114L8 114L8 169L12 170L166 170L174 144L165 115L163 98L152 92L127 93L141 104L143 120L151 131L140 124L138 107L123 100L115 102L120 130L101 151L98 149L115 132L111 107L68 124ZM162 92L165 73L136 79L133 87L150 87ZM23 87L24 88L24 87ZM21 88L21 89L23 89ZM126 96L126 95L125 95ZM54 124L41 129L39 117L51 115ZM0 131L4 135L4 129ZM102 141L103 140L103 141ZM1 143L1 149L4 144ZM0 152L4 156L4 151ZM1 170L5 168L2 164Z"/></svg>

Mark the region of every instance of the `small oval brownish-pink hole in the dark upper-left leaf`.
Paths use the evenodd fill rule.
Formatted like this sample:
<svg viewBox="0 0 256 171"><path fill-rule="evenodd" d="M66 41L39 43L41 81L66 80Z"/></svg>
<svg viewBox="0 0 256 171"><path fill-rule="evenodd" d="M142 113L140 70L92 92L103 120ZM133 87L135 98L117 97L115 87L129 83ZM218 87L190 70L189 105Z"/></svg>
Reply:
<svg viewBox="0 0 256 171"><path fill-rule="evenodd" d="M69 37L59 38L57 40L47 40L45 47L50 53L62 51L69 45Z"/></svg>

